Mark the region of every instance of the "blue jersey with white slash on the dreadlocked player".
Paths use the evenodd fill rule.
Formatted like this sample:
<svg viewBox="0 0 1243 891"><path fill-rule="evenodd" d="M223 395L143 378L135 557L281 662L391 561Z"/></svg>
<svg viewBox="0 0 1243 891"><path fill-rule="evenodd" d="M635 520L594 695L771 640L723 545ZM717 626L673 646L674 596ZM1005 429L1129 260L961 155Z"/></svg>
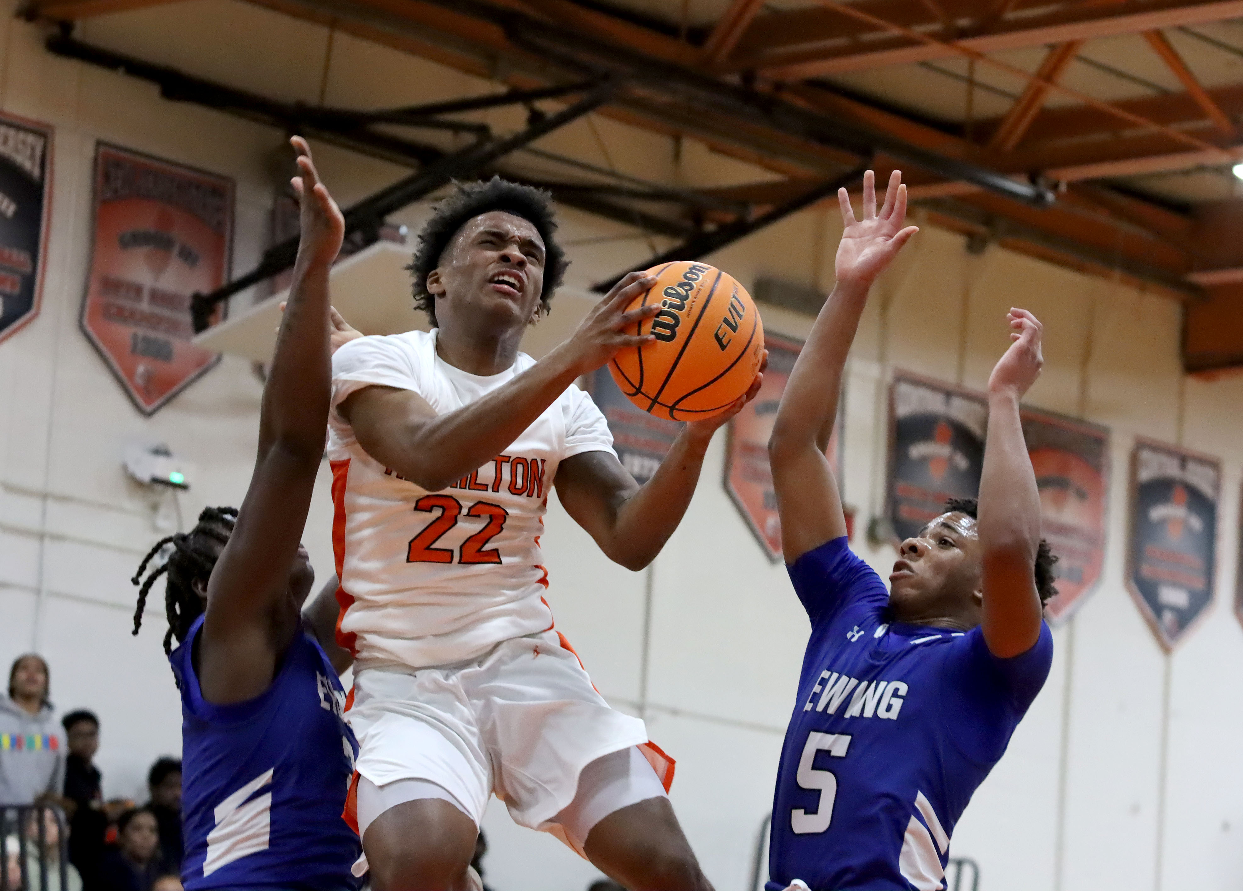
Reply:
<svg viewBox="0 0 1243 891"><path fill-rule="evenodd" d="M341 813L358 756L344 692L319 645L295 635L262 695L206 702L191 662L203 616L169 656L181 688L186 891L353 891L362 854Z"/></svg>

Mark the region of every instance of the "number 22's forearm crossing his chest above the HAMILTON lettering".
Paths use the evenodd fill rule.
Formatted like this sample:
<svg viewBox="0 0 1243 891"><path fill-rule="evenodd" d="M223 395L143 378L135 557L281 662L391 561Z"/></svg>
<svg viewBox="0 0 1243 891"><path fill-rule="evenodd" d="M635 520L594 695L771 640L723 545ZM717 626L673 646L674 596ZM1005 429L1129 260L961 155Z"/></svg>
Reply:
<svg viewBox="0 0 1243 891"><path fill-rule="evenodd" d="M406 480L436 492L508 449L578 375L554 350L479 401L406 425L395 442L377 450L380 454L363 446Z"/></svg>

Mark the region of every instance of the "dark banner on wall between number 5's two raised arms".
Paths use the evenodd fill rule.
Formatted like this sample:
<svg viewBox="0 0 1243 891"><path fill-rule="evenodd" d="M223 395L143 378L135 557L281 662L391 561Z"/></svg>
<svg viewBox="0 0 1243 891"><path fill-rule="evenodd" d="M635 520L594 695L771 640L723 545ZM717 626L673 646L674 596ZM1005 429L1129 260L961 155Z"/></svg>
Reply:
<svg viewBox="0 0 1243 891"><path fill-rule="evenodd" d="M945 513L947 498L978 495L987 425L983 395L901 372L894 375L885 516L899 542Z"/></svg>

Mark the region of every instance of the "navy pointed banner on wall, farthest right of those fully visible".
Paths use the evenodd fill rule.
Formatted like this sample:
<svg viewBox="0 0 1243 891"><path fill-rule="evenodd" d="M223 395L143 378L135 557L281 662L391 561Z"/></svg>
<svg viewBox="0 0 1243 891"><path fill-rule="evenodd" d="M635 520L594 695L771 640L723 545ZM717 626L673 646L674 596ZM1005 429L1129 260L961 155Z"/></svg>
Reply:
<svg viewBox="0 0 1243 891"><path fill-rule="evenodd" d="M1213 600L1221 462L1137 440L1126 587L1166 650Z"/></svg>

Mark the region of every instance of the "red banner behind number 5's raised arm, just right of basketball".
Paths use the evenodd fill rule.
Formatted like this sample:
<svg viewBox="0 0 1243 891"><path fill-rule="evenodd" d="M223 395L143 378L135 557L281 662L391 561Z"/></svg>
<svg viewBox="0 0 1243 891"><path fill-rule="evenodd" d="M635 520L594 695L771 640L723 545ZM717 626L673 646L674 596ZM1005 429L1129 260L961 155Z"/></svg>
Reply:
<svg viewBox="0 0 1243 891"><path fill-rule="evenodd" d="M764 348L768 350L764 383L761 384L756 398L730 421L725 452L725 488L755 533L759 547L768 554L768 559L776 563L782 558L781 519L777 516L772 468L768 466L768 437L773 431L777 406L781 405L789 373L794 369L794 360L798 359L803 344L766 333ZM844 390L843 385L843 398L838 400L838 419L827 452L834 476L839 480L842 473L838 437L844 415ZM848 513L848 528L851 519Z"/></svg>

